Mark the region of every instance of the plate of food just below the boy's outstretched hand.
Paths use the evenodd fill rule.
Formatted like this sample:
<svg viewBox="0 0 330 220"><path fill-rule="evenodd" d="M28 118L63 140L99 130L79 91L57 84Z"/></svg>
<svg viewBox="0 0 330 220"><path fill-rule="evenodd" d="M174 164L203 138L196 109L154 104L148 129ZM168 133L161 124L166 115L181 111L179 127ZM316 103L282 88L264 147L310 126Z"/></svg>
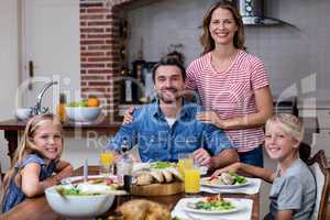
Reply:
<svg viewBox="0 0 330 220"><path fill-rule="evenodd" d="M238 188L250 184L245 176L235 173L222 173L220 176L205 177L200 179L202 186L217 188Z"/></svg>

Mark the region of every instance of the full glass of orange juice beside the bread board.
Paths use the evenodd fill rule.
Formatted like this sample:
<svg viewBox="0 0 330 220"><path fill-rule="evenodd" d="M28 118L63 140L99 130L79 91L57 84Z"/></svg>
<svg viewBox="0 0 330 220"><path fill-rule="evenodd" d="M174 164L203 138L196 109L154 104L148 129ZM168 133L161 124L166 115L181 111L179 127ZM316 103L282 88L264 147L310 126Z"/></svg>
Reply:
<svg viewBox="0 0 330 220"><path fill-rule="evenodd" d="M185 169L185 193L198 194L200 191L200 173L198 168L191 167Z"/></svg>

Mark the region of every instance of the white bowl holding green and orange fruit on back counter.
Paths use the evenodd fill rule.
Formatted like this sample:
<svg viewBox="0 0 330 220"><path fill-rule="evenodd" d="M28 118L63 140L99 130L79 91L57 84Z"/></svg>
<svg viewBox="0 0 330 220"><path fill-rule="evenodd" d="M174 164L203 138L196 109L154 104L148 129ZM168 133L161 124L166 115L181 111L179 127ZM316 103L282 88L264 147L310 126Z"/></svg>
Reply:
<svg viewBox="0 0 330 220"><path fill-rule="evenodd" d="M101 114L100 107L65 107L66 114L74 122L96 121Z"/></svg>

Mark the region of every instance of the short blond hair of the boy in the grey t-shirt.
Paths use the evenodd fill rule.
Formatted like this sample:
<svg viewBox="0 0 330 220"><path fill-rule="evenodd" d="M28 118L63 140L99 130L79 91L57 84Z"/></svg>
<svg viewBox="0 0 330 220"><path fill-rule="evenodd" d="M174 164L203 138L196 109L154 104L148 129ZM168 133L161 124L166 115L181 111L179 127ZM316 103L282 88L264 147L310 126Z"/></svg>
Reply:
<svg viewBox="0 0 330 220"><path fill-rule="evenodd" d="M298 142L302 141L304 125L302 122L294 114L289 114L289 113L274 114L267 120L266 129L267 127L274 123L278 123L278 125L280 127L280 129L286 135L294 138Z"/></svg>

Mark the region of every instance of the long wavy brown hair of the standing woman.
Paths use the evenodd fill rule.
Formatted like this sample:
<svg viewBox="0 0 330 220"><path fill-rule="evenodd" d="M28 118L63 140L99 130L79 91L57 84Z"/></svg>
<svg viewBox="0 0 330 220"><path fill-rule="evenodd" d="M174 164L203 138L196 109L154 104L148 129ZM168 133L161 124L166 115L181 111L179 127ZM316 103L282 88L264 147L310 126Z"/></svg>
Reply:
<svg viewBox="0 0 330 220"><path fill-rule="evenodd" d="M216 43L211 36L209 28L210 28L210 23L211 23L212 13L218 8L227 9L231 12L231 14L235 21L235 24L238 25L238 31L233 37L233 45L234 45L234 47L237 47L239 50L245 51L245 46L244 46L245 35L244 35L244 26L243 26L242 16L241 16L239 10L237 9L237 7L232 2L223 0L223 1L219 1L219 2L215 3L208 10L208 12L205 14L205 16L202 19L202 35L199 38L200 44L204 47L202 55L205 55L216 48Z"/></svg>

